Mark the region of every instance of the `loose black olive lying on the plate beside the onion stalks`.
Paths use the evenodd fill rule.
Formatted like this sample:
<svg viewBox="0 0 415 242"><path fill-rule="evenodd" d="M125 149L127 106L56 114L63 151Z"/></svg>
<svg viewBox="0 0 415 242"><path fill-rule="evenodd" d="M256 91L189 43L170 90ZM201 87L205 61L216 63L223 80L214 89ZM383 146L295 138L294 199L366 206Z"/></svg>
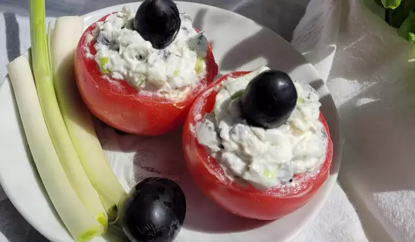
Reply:
<svg viewBox="0 0 415 242"><path fill-rule="evenodd" d="M182 189L167 178L145 178L121 207L122 230L132 242L170 242L186 215Z"/></svg>

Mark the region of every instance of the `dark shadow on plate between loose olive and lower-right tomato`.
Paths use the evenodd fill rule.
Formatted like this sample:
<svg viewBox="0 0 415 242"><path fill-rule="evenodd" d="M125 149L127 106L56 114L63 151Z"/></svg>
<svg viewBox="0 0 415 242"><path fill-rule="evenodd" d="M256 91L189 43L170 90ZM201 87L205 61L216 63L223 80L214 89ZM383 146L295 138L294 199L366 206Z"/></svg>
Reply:
<svg viewBox="0 0 415 242"><path fill-rule="evenodd" d="M134 145L137 143L134 142L133 137L129 140L133 144L128 144L124 140L126 141L124 148L134 147L133 154L122 157L122 154L118 153L116 156L133 163L134 174L127 180L129 187L133 187L147 177L156 176L175 180L185 192L187 214L184 227L188 230L228 233L252 230L269 223L269 221L255 221L231 214L203 194L187 170L183 158L181 133L182 130L177 129L164 136L142 140L138 145Z"/></svg>

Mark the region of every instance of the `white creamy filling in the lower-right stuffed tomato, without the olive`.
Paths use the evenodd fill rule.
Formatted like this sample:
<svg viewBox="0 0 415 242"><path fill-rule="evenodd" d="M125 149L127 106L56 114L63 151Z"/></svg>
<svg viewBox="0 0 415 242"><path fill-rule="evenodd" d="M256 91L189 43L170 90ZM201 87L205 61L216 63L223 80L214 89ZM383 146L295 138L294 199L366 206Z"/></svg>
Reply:
<svg viewBox="0 0 415 242"><path fill-rule="evenodd" d="M257 189L290 184L295 174L316 171L324 160L327 144L319 120L319 96L303 82L294 82L297 105L282 126L252 127L241 117L241 93L253 77L267 70L263 66L248 75L225 80L216 95L214 111L196 125L196 138L225 174Z"/></svg>

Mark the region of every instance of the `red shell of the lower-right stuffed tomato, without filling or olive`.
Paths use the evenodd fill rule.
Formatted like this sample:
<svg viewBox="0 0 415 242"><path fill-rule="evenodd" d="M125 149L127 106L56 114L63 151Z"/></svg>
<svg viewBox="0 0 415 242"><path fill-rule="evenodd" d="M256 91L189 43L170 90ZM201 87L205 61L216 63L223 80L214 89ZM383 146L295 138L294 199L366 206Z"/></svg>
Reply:
<svg viewBox="0 0 415 242"><path fill-rule="evenodd" d="M317 174L295 175L294 180L302 179L295 186L280 185L265 191L259 191L252 186L241 187L233 183L225 176L219 163L209 155L205 147L199 144L194 129L201 117L212 111L221 83L229 76L239 77L246 73L249 72L235 72L225 75L212 83L198 97L190 109L183 127L183 151L192 177L212 201L225 210L242 217L274 220L305 205L323 185L329 176L333 144L329 127L320 113L320 121L324 124L328 145L326 157Z"/></svg>

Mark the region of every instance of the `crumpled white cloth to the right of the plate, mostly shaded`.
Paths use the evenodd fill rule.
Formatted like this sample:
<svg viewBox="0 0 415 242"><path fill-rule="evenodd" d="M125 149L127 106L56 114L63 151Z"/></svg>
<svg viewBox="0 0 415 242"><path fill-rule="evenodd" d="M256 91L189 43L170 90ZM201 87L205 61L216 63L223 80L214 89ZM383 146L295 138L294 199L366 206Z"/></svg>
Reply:
<svg viewBox="0 0 415 242"><path fill-rule="evenodd" d="M367 238L415 241L415 46L368 7L377 12L373 0L312 0L292 42L338 106L339 180Z"/></svg>

